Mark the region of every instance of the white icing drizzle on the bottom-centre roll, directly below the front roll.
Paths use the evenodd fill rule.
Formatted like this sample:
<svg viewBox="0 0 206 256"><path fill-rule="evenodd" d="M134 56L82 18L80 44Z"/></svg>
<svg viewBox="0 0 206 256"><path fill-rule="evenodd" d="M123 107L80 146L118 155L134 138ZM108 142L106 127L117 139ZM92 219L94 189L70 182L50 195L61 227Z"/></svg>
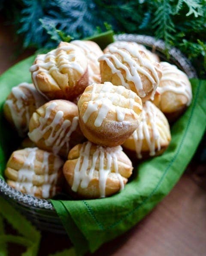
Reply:
<svg viewBox="0 0 206 256"><path fill-rule="evenodd" d="M124 189L124 181L122 176L118 173L118 159L116 154L122 150L121 146L115 147L115 150L112 148L105 148L101 146L96 146L97 149L94 151L92 156L90 155L91 151L91 142L87 142L83 144L79 158L76 162L76 166L74 169L74 179L72 190L77 191L78 187L87 188L89 182L93 178L94 170L98 171L99 178L99 189L100 189L100 197L105 197L106 193L106 180L108 178L109 173L111 173L112 164L114 165L115 172L114 174L117 176L120 182L121 190ZM104 166L106 158L106 166ZM99 159L99 166L97 165L97 160ZM91 167L89 166L91 161Z"/></svg>

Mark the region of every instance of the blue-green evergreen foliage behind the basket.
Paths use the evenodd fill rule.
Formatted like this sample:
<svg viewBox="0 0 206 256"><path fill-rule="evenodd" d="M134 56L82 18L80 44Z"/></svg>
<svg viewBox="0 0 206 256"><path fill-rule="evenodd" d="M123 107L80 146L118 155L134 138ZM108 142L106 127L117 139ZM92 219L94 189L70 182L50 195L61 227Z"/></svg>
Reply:
<svg viewBox="0 0 206 256"><path fill-rule="evenodd" d="M168 47L185 53L201 77L206 76L205 0L1 0L2 6L18 25L24 47L55 47L61 40L109 30L109 24L115 33L163 39Z"/></svg>

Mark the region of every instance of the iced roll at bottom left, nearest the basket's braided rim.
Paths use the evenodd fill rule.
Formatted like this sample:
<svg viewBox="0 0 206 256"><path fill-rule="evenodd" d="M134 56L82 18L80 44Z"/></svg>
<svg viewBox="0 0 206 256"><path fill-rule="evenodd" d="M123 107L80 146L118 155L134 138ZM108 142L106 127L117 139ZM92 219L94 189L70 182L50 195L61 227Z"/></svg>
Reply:
<svg viewBox="0 0 206 256"><path fill-rule="evenodd" d="M59 156L37 147L16 150L6 165L6 182L22 193L50 198L61 191L63 164Z"/></svg>

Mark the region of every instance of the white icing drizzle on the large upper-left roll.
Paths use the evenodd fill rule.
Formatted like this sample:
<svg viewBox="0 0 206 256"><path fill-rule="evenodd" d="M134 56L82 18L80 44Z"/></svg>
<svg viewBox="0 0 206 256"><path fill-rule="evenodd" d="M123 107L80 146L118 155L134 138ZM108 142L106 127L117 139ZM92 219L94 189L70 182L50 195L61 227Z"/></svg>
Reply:
<svg viewBox="0 0 206 256"><path fill-rule="evenodd" d="M68 51L72 51L72 53L67 53ZM61 84L58 84L58 82L52 77L51 74L51 72L54 70L57 72L65 73L63 72L63 69L65 68L74 69L80 75L83 75L85 69L80 65L79 62L76 61L76 59L78 59L82 53L82 49L77 49L75 45L68 44L67 46L61 46L55 50L51 50L47 54L39 54L36 57L36 62L38 63L31 66L29 69L30 72L32 72L33 83L39 93L45 96L45 94L39 90L39 86L36 80L36 76L41 72L48 74L51 83L57 85L58 87L61 87Z"/></svg>

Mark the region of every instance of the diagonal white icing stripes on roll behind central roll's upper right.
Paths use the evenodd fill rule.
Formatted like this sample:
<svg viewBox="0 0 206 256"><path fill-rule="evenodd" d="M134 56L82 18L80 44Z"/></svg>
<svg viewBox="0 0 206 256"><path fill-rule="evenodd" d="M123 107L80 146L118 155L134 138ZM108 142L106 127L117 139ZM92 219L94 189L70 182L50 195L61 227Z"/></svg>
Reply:
<svg viewBox="0 0 206 256"><path fill-rule="evenodd" d="M154 91L156 90L159 84L159 77L157 71L161 72L153 63L147 59L143 58L139 53L139 48L134 47L133 44L128 44L128 42L116 42L115 45L111 44L108 47L108 52L106 52L103 56L100 56L99 61L106 61L107 65L110 67L112 74L117 74L121 80L121 84L130 89L130 85L128 81L133 82L135 85L135 89L139 97L145 97L145 91L143 90L142 80L139 74L145 75L148 80L151 82ZM127 51L125 51L127 50ZM123 59L123 61L127 64L124 65L121 60L119 60L114 54L117 53ZM139 60L139 63L135 61L134 58ZM149 69L152 73L152 76L149 72L147 72L142 67ZM122 75L121 69L123 69L126 73L126 80Z"/></svg>

